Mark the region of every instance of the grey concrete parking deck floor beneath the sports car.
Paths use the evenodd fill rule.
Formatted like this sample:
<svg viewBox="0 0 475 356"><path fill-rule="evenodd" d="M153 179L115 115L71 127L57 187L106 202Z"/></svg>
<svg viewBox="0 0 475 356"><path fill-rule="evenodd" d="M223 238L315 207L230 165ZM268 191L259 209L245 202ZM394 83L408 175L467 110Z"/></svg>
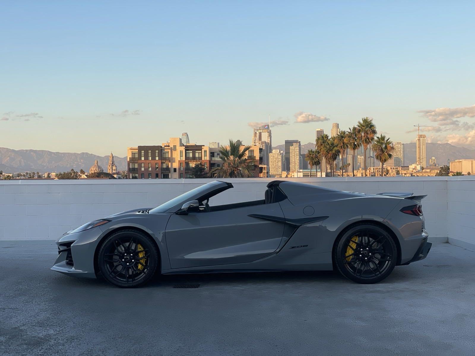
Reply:
<svg viewBox="0 0 475 356"><path fill-rule="evenodd" d="M373 285L272 272L132 290L50 271L49 242L1 246L0 355L475 354L475 252L450 244Z"/></svg>

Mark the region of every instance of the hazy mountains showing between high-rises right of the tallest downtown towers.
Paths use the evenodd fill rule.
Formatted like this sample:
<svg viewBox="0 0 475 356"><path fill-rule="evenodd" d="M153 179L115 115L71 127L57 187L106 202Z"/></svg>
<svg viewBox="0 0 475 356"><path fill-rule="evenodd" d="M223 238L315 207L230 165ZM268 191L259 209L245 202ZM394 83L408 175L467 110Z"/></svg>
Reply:
<svg viewBox="0 0 475 356"><path fill-rule="evenodd" d="M306 143L301 146L301 153L307 153L308 150L313 149L315 144L312 142ZM274 150L284 150L284 145L278 145L273 147ZM475 150L467 149L465 147L452 146L450 143L428 143L427 150L427 163L431 157L435 157L437 164L447 164L447 160L455 159L475 159ZM416 143L404 144L404 163L406 166L416 162Z"/></svg>

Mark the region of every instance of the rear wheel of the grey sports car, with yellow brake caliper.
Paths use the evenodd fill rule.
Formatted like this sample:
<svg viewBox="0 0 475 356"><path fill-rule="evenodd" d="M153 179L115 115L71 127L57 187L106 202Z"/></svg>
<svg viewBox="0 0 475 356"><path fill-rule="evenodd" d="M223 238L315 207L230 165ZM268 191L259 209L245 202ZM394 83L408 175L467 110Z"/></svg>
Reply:
<svg viewBox="0 0 475 356"><path fill-rule="evenodd" d="M345 230L333 250L333 261L346 278L362 284L382 281L398 260L394 238L374 224L359 224Z"/></svg>

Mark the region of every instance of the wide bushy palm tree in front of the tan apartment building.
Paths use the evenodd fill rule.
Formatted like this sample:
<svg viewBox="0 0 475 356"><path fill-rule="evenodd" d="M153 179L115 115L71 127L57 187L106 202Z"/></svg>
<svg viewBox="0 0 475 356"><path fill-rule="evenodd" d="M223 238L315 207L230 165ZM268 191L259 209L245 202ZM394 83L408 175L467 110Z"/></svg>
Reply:
<svg viewBox="0 0 475 356"><path fill-rule="evenodd" d="M220 146L219 154L223 161L221 167L211 169L212 178L249 178L253 176L254 160L247 159L247 151L251 146L241 148L239 140L229 140L229 146Z"/></svg>

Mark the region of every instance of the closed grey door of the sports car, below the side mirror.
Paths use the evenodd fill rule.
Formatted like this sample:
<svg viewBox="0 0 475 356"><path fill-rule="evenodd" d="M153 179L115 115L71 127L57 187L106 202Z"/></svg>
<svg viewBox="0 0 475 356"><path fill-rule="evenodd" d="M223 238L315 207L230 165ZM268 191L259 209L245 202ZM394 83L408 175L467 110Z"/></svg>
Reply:
<svg viewBox="0 0 475 356"><path fill-rule="evenodd" d="M251 214L284 218L279 203L171 215L165 230L171 268L253 262L275 252L284 224Z"/></svg>

